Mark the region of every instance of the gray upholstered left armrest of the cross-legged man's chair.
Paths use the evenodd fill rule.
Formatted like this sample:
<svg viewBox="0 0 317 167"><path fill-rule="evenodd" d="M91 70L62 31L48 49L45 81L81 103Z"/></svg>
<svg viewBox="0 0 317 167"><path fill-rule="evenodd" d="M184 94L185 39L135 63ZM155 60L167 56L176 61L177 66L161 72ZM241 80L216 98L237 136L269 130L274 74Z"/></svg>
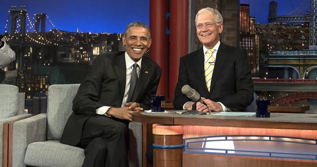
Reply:
<svg viewBox="0 0 317 167"><path fill-rule="evenodd" d="M46 141L47 114L38 114L13 123L12 164L24 166L26 148L30 143Z"/></svg>

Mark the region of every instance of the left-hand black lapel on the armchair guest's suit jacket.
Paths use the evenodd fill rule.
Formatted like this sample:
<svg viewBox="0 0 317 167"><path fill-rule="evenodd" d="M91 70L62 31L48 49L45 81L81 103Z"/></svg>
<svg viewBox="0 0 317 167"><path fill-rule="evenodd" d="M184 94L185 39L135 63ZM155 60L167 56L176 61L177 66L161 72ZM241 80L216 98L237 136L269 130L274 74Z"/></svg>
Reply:
<svg viewBox="0 0 317 167"><path fill-rule="evenodd" d="M121 99L123 99L124 90L125 90L125 80L126 80L124 52L115 57L113 68L119 80L120 97Z"/></svg>

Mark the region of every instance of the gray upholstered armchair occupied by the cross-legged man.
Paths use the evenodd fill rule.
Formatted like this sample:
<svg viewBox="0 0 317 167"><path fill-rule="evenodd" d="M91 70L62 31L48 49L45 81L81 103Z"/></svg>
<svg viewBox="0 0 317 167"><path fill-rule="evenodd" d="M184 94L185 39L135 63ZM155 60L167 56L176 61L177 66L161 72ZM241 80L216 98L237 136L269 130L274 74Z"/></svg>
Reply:
<svg viewBox="0 0 317 167"><path fill-rule="evenodd" d="M59 143L72 114L72 101L79 84L51 85L47 113L17 121L13 125L12 166L81 166L84 150ZM142 124L129 124L130 166L142 165ZM23 152L23 153L21 153ZM25 156L24 156L25 155Z"/></svg>

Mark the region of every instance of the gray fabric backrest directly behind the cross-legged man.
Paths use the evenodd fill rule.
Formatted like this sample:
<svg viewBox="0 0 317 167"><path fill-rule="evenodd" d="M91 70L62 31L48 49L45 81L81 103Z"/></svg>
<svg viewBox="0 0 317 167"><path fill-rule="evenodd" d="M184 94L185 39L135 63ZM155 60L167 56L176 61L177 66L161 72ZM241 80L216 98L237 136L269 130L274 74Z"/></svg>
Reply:
<svg viewBox="0 0 317 167"><path fill-rule="evenodd" d="M80 84L51 85L47 96L47 140L60 140Z"/></svg>

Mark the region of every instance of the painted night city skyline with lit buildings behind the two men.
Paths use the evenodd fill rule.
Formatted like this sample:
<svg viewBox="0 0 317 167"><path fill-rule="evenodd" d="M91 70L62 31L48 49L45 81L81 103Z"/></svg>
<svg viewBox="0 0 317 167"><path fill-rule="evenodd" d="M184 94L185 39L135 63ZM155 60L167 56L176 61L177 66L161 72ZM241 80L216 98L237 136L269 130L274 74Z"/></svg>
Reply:
<svg viewBox="0 0 317 167"><path fill-rule="evenodd" d="M305 0L302 3L307 1L309 0ZM261 10L265 10L266 12L261 12L260 9L260 12L258 12L266 15L266 20L268 19L269 2L271 1L267 2L268 4L261 8ZM277 3L277 12L275 13L276 16L285 15L280 12L280 9L287 8L284 8L281 5L282 3L280 4L279 1L275 2ZM247 4L247 1L241 1L241 4ZM270 70L268 70L268 66L270 65L270 55L274 51L284 50L292 52L307 50L307 40L309 39L309 24L307 24L307 21L305 24L293 22L292 24L294 25L288 23L257 24L254 22L255 15L252 14L252 11L254 10L254 2L251 2L249 5L242 6L247 7L247 10L245 11L247 13L247 18L241 21L240 6L240 30L243 29L241 28L241 23L246 22L247 24L245 24L246 26L244 27L246 28L246 31L235 31L234 33L240 34L240 44L238 44L239 47L248 50L248 62L250 68L252 69L252 73L255 74L256 77L260 78L286 77L298 79L299 77L301 77L301 74L303 74L303 70L309 68L309 66L307 66L307 68L299 66L300 70L296 74L293 72L292 68L287 68L287 70L285 70L286 68L282 68L282 70L280 71L280 68L274 69L274 67L273 70L279 70L278 73L270 73ZM298 8L295 8L293 10L292 8L291 10L296 11L297 9ZM15 13L19 15L19 13L25 14L26 12L29 14L31 10L29 10L27 7L25 7L25 9L23 10L19 10L19 7L17 6L15 10L10 11L11 14ZM282 11L288 12L287 10ZM51 17L49 12L46 12L46 14L47 16L43 15L43 17L46 18L46 21L44 22L46 22L47 26L54 26L53 28L46 28L46 32L40 31L39 29L37 29L39 33L33 32L34 29L36 29L34 27L39 26L40 22L39 20L36 22L35 19L32 18L34 17L32 14L26 16L22 16L20 14L21 16L19 16L26 19L26 24L31 23L31 25L29 24L25 27L25 36L23 36L23 33L21 33L21 35L19 33L19 24L23 24L21 23L22 21L19 22L16 20L17 33L12 33L12 31L14 32L15 29L9 30L9 28L7 28L7 30L9 31L9 33L6 34L8 43L16 51L17 55L20 55L16 62L17 70L19 71L18 77L16 78L16 81L13 80L13 82L17 83L21 92L25 92L26 98L33 97L33 95L38 91L47 93L47 87L51 84L80 83L85 74L88 72L89 66L93 62L94 58L96 58L96 56L103 53L124 50L121 42L122 34L120 33L94 33L93 31L91 31L91 33L90 31L83 32L84 30L80 27L77 27L79 29L76 28L75 30L67 30L66 26L65 29L62 28L63 26L60 25L64 24L57 23ZM41 17L41 15L38 15L36 18L38 17ZM71 16L67 17L67 19L70 18ZM134 18L134 16L132 18ZM85 18L81 18L81 20L83 19ZM96 19L88 20L91 21ZM256 22L259 22L257 20L259 19L256 18ZM15 23L15 21L13 22ZM41 20L41 22L43 22L43 20ZM146 23L148 24L148 22ZM226 24L226 22L224 24ZM69 23L69 25L72 24ZM126 25L123 26L123 29L125 28L125 26ZM236 24L233 24L233 26L236 27ZM118 29L119 26L117 27L117 30ZM124 30L122 30L122 32L123 31ZM275 35L275 33L277 33L278 35ZM260 39L260 43L256 41L256 39ZM22 47L22 49L19 49L19 47ZM282 55L278 56L283 56L283 53ZM284 66L287 63L289 62L281 62L281 64ZM272 67L270 69L272 69ZM290 72L286 73L286 71ZM0 74L0 79L4 78L4 72L0 71L0 73L2 73ZM315 73L315 70L312 70L310 72L310 74L312 75L304 76L305 78L310 79L311 76L315 76ZM39 84L34 83L33 81L42 82Z"/></svg>

